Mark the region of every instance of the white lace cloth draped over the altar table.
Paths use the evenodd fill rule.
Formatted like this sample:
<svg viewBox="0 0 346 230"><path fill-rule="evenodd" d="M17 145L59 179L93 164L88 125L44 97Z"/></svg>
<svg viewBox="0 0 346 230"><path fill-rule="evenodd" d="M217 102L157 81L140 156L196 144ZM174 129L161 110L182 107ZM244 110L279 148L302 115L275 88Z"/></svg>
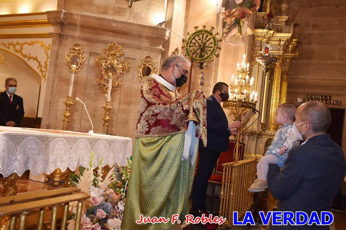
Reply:
<svg viewBox="0 0 346 230"><path fill-rule="evenodd" d="M93 168L101 158L102 166L115 163L125 166L131 150L132 140L128 137L0 126L3 177L12 173L22 176L28 169L35 176L42 172L51 174L57 168L62 172L66 168L75 171L79 166L88 167L92 151L95 153Z"/></svg>

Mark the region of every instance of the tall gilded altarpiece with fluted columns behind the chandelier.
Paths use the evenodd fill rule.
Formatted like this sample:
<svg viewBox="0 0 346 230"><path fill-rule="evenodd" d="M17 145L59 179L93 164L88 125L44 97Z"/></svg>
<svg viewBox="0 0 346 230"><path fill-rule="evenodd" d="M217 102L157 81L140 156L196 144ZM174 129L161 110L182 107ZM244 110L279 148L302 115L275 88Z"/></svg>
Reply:
<svg viewBox="0 0 346 230"><path fill-rule="evenodd" d="M276 1L267 1L275 4ZM267 3L267 4L270 4ZM274 6L266 6L266 11ZM279 128L275 124L275 110L281 103L286 102L287 83L290 76L292 60L298 57L298 39L292 38L293 22L288 16L278 16L270 20L275 30L264 29L268 23L267 12L256 13L256 27L254 29L254 42L250 76L255 78L255 91L258 92L259 103L256 109L261 111L260 118L244 133L245 156L262 157L271 139ZM269 67L268 72L256 62L256 57L265 43L269 43L277 62ZM254 116L255 117L255 116ZM252 118L253 121L255 118ZM251 122L250 122L251 123Z"/></svg>

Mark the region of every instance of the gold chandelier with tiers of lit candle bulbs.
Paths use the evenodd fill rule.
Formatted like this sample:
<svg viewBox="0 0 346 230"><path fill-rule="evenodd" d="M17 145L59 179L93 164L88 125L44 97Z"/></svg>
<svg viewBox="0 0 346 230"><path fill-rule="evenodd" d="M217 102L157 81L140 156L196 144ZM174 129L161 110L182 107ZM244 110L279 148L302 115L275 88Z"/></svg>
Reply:
<svg viewBox="0 0 346 230"><path fill-rule="evenodd" d="M241 64L237 63L236 76L232 74L229 85L229 99L224 102L223 107L230 110L235 120L241 120L249 108L255 108L257 103L257 92L253 89L254 77L249 77L249 63L245 62L245 53Z"/></svg>

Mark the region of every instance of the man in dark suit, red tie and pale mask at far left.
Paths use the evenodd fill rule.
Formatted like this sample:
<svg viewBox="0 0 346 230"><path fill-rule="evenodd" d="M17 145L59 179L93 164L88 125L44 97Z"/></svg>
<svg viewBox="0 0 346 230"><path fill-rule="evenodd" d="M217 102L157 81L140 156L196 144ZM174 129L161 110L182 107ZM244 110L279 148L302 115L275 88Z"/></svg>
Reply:
<svg viewBox="0 0 346 230"><path fill-rule="evenodd" d="M5 80L6 91L0 93L0 126L17 127L24 116L23 99L15 94L17 80Z"/></svg>

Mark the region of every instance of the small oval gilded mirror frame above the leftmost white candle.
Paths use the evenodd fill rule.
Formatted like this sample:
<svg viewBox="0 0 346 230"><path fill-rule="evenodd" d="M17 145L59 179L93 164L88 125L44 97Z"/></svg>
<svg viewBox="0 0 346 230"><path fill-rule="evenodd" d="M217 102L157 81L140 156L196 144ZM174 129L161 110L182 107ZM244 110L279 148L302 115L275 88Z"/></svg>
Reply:
<svg viewBox="0 0 346 230"><path fill-rule="evenodd" d="M83 55L83 52L84 50L82 50L80 44L74 44L70 49L70 53L66 52L67 69L71 72L78 73L83 68L83 62L86 60L86 56Z"/></svg>

